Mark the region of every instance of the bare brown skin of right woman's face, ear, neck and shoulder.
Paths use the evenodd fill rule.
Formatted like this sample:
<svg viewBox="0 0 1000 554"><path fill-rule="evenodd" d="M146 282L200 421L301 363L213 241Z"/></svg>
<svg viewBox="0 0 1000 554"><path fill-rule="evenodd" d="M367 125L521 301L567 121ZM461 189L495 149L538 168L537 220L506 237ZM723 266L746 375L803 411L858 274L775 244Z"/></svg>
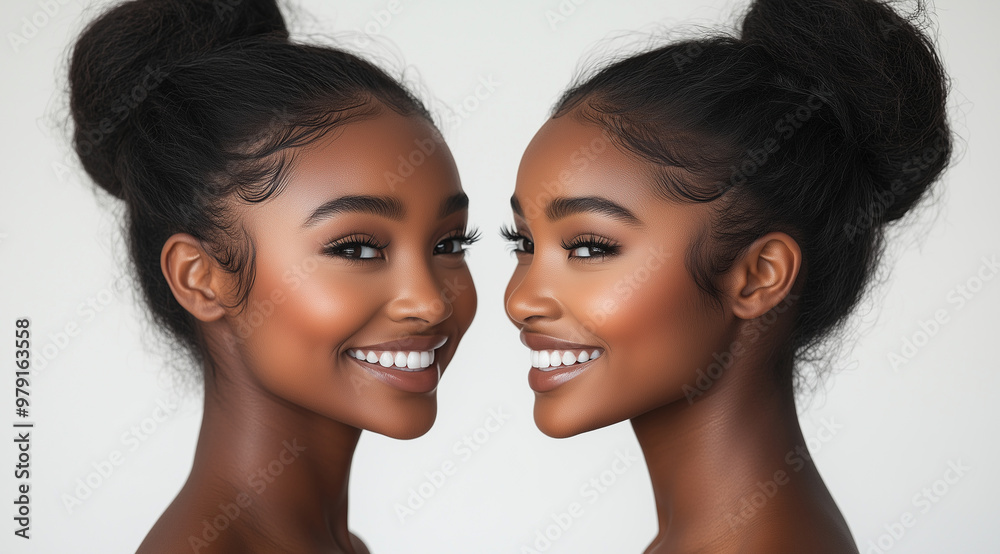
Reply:
<svg viewBox="0 0 1000 554"><path fill-rule="evenodd" d="M577 115L546 122L522 158L514 223L528 240L515 244L505 303L522 331L603 353L535 393L539 429L570 437L631 420L659 521L647 554L856 553L808 457L793 391L771 378L780 362L769 353L788 340L801 286L798 244L780 232L755 241L719 280L723 309L713 307L685 263L713 206L655 196L650 166ZM638 222L595 212L553 220L554 196L605 198ZM562 245L590 234L618 251ZM724 371L699 381L726 354ZM776 492L759 494L758 483L776 480Z"/></svg>

